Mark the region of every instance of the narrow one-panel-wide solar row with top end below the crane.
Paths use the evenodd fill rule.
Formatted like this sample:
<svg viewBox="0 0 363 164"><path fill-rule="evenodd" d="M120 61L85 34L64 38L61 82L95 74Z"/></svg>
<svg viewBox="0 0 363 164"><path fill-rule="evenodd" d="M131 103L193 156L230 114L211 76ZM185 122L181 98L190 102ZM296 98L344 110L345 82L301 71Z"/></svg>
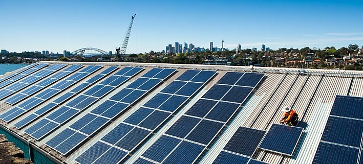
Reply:
<svg viewBox="0 0 363 164"><path fill-rule="evenodd" d="M109 68L105 69L101 73L97 74L96 76L92 77L91 79L87 80L86 82L76 86L72 90L66 92L64 95L60 96L59 98L55 99L54 101L48 103L47 105L39 108L38 110L34 111L26 118L19 120L14 124L14 127L17 129L21 129L24 126L30 124L34 120L38 119L40 116L46 114L47 112L51 111L52 109L56 108L57 106L63 104L67 100L71 99L76 94L80 93L84 89L89 88L91 85L96 83L97 81L103 79L104 77L108 76L112 72L114 72L118 67L117 66L110 66Z"/></svg>

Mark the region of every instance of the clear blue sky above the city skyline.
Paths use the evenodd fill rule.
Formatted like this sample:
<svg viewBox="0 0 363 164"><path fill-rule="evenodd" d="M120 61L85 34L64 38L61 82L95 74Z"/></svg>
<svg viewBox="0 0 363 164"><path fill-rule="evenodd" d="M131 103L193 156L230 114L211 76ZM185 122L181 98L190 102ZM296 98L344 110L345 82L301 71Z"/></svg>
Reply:
<svg viewBox="0 0 363 164"><path fill-rule="evenodd" d="M169 43L234 49L363 45L363 1L0 1L0 49L115 51L137 14L126 53Z"/></svg>

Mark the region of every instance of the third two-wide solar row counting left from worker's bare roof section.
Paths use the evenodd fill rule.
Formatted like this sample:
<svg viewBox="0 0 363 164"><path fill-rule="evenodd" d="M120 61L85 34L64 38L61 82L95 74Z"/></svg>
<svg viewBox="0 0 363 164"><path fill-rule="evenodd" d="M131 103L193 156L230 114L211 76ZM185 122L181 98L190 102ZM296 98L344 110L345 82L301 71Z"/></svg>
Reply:
<svg viewBox="0 0 363 164"><path fill-rule="evenodd" d="M107 112L108 116L110 116L110 118L105 118L104 116L102 116L102 114L98 115L98 114L94 113L93 111L91 111L89 114L84 115L77 122L75 122L70 127L68 127L67 130L63 130L58 135L56 135L55 137L50 139L46 143L46 145L48 145L51 148L57 150L58 152L62 153L63 155L67 154L72 149L74 149L74 147L78 146L84 139L86 139L91 134L96 132L104 124L108 123L117 114L119 114L120 112L125 110L128 106L130 106L131 104L136 102L146 92L153 89L158 83L160 83L163 79L167 78L169 75L171 75L174 72L175 72L175 69L166 69L166 68L165 69L161 69L161 68L151 69L151 71L147 72L146 74L144 74L143 76L140 77L142 79L148 79L147 81L140 84L140 82L138 80L140 78L138 78L137 80L135 80L134 82L132 82L131 84L126 86L124 89L122 89L121 91L118 92L118 93L123 92L125 89L133 90L127 96L124 96L121 100L119 100L118 102L116 102L115 104L110 106L109 109L106 109L106 111L104 111L102 113L102 114L104 114L104 113ZM135 72L135 74L136 73L137 72ZM148 77L148 76L150 76L150 77ZM154 79L155 77L158 77L158 79ZM160 78L162 78L162 79L160 79ZM155 80L158 80L159 82L158 83L155 83L155 82L148 83L149 81L155 81ZM139 84L139 87L145 86L145 84L147 84L148 89L145 90L145 91L137 90L137 89L139 89L139 87L132 89L133 86L135 86L135 83ZM138 95L133 95L133 96L130 97L130 95L132 95L135 91L138 91L139 94ZM129 99L126 99L127 101L122 101L122 100L125 100L125 98L127 98L127 97L129 97ZM108 103L111 100L114 101L114 98L111 97L109 99ZM105 103L102 103L102 104L105 104ZM102 105L102 104L100 106L96 107L96 109L94 109L94 110L100 111L99 107L102 106L102 108L103 108L105 106L105 105ZM108 111L111 111L111 112L108 112ZM93 120L91 122L89 122L91 119L93 119ZM75 133L72 134L71 136L66 135L70 130L74 131ZM79 139L75 139L73 136L77 136L77 138L79 138ZM59 140L60 140L60 143L59 143ZM58 145L56 145L54 143L56 143ZM67 143L67 144L63 144L63 143Z"/></svg>

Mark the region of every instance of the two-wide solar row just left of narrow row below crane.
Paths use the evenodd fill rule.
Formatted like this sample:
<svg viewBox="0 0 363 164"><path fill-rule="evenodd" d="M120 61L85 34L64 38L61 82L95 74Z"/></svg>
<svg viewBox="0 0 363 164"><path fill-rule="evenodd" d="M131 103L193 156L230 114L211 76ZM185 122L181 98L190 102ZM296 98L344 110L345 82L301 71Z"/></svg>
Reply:
<svg viewBox="0 0 363 164"><path fill-rule="evenodd" d="M41 103L44 103L45 101L57 95L61 91L67 89L69 86L77 83L81 79L88 77L89 75L100 69L101 67L102 66L100 65L90 65L87 66L86 68L83 68L81 71L75 73L74 75L68 77L67 79L57 82L52 87L45 89L44 91L38 93L34 97L6 111L2 115L0 115L0 119L9 123L10 121L18 118L20 115L24 114L25 112L33 109L34 107L40 105Z"/></svg>

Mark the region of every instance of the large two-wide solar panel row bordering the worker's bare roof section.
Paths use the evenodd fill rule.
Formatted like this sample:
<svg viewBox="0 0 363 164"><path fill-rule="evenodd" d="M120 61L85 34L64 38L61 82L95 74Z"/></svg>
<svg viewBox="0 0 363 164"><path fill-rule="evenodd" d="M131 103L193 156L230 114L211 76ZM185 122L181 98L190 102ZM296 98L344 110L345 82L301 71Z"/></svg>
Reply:
<svg viewBox="0 0 363 164"><path fill-rule="evenodd" d="M263 76L226 73L140 158L153 163L195 162Z"/></svg>

